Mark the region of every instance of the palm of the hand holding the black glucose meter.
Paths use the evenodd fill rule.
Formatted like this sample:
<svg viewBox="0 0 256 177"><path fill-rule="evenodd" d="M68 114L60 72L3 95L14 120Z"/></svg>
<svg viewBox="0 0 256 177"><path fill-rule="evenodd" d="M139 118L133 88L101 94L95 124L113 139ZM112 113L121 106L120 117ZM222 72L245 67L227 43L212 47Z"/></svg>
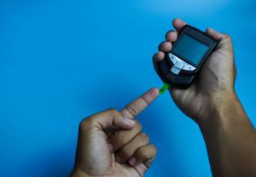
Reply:
<svg viewBox="0 0 256 177"><path fill-rule="evenodd" d="M222 42L224 43L224 41ZM222 45L219 43L219 45ZM208 58L204 66L201 68L200 77L195 79L195 82L187 89L170 90L172 99L177 106L189 117L196 119L202 111L205 111L211 103L212 98L207 95L212 95L217 91L224 91L233 83L230 83L233 77L232 54L227 57L228 49L217 49ZM220 65L221 64L221 65Z"/></svg>

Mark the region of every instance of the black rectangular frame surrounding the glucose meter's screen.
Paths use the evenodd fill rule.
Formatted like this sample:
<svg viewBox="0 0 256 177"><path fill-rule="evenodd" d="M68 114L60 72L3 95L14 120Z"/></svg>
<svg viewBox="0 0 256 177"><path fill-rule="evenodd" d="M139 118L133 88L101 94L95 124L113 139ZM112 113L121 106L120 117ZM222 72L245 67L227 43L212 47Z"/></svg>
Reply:
<svg viewBox="0 0 256 177"><path fill-rule="evenodd" d="M197 40L197 41L199 41L201 43L204 43L208 47L208 49L205 52L205 54L203 54L201 56L201 59L200 59L200 61L199 61L199 63L197 65L195 65L195 63L193 63L192 61L184 58L182 55L177 54L176 52L174 52L174 49L175 49L177 43L180 42L180 40L182 39L182 37L184 35L189 35L189 37L193 37L195 40ZM207 55L209 53L211 53L212 49L215 47L215 43L216 42L214 41L214 39L212 39L211 37L208 37L204 32L199 31L199 30L195 29L192 26L186 25L186 26L184 26L183 31L181 31L181 33L178 35L177 41L175 43L173 43L171 53L176 55L181 60L189 63L190 65L195 66L195 67L199 67L199 66L201 66L203 61L206 60Z"/></svg>

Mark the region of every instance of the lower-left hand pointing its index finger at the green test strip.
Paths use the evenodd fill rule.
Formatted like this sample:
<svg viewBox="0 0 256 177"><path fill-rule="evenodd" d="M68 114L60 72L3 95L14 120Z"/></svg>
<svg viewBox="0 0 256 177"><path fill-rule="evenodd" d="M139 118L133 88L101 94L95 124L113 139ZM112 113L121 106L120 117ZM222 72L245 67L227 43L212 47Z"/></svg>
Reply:
<svg viewBox="0 0 256 177"><path fill-rule="evenodd" d="M71 176L143 176L156 155L135 120L157 96L151 88L122 111L109 109L80 123L76 163Z"/></svg>

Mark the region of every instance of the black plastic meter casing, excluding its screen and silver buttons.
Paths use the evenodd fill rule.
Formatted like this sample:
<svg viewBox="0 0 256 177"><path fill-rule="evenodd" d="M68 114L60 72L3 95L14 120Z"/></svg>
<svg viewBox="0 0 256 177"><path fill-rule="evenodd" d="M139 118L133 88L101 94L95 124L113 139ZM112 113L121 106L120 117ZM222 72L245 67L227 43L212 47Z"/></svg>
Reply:
<svg viewBox="0 0 256 177"><path fill-rule="evenodd" d="M196 40L201 43L205 43L208 46L207 52L201 57L201 62L198 66L195 67L194 71L185 71L181 70L177 75L173 74L171 71L172 66L174 65L169 58L169 53L165 54L164 60L160 62L154 62L154 69L158 73L159 77L164 83L170 84L172 88L189 88L191 83L193 83L197 73L201 69L201 66L207 60L207 57L212 54L212 51L215 49L217 42L212 38L208 37L207 34L203 31L196 29L193 26L186 25L183 27L183 30L180 31L179 36L177 37L177 41L172 44L172 50L170 53L176 55L181 60L187 62L189 65L195 66L189 60L183 58L183 56L179 54L175 54L173 49L176 46L176 43L179 41L179 37L183 34L189 34L189 36L194 37Z"/></svg>

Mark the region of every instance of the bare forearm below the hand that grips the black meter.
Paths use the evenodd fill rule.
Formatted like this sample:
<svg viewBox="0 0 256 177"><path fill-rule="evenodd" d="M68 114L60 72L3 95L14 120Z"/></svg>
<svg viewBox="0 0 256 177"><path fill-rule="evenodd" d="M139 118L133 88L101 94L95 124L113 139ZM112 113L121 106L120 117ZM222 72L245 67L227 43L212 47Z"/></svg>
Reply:
<svg viewBox="0 0 256 177"><path fill-rule="evenodd" d="M209 108L199 126L214 176L256 176L256 132L236 94Z"/></svg>

